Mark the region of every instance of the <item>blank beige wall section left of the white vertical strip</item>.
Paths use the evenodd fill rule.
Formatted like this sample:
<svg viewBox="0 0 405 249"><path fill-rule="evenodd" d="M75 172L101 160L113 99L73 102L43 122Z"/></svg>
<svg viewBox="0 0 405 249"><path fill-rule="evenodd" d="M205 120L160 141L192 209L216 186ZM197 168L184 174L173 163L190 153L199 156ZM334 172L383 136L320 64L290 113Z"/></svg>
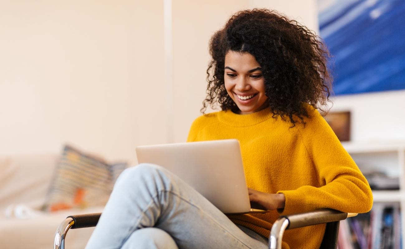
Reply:
<svg viewBox="0 0 405 249"><path fill-rule="evenodd" d="M0 34L0 155L166 141L162 1L1 1Z"/></svg>

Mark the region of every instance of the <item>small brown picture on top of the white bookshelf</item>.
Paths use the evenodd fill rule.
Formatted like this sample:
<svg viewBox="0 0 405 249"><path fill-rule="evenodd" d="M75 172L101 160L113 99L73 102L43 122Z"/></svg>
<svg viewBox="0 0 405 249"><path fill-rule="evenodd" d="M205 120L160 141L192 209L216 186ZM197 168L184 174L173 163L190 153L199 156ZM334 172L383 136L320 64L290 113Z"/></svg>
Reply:
<svg viewBox="0 0 405 249"><path fill-rule="evenodd" d="M350 141L350 111L329 112L324 118L340 141Z"/></svg>

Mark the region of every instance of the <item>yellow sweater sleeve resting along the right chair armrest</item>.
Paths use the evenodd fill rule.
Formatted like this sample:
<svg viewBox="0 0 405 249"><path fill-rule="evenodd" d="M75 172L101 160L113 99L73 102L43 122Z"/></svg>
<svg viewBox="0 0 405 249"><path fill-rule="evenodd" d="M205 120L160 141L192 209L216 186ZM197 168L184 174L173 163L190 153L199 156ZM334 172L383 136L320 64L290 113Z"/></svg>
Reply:
<svg viewBox="0 0 405 249"><path fill-rule="evenodd" d="M370 211L373 196L369 183L318 111L311 112L311 116L300 133L321 187L279 191L286 197L282 214L323 208L347 213Z"/></svg>

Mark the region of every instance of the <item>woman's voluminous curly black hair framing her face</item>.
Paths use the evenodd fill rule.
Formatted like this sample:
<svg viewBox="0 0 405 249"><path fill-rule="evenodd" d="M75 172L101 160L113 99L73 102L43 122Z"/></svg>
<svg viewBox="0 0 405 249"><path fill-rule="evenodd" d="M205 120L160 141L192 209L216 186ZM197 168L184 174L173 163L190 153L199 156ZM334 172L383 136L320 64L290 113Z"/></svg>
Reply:
<svg viewBox="0 0 405 249"><path fill-rule="evenodd" d="M329 53L320 38L276 11L253 9L234 14L211 38L202 113L207 105L217 104L222 110L239 110L224 85L225 55L230 50L250 53L260 64L274 118L289 118L292 126L305 124L308 104L324 111L322 106L330 101Z"/></svg>

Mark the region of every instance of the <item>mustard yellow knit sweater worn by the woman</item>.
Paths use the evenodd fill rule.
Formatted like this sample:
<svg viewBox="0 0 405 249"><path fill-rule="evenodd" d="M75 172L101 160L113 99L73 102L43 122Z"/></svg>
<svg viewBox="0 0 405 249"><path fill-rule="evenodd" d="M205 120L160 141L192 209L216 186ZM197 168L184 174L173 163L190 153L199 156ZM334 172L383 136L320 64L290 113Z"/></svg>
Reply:
<svg viewBox="0 0 405 249"><path fill-rule="evenodd" d="M320 113L310 106L308 110L305 127L290 128L289 121L274 119L269 109L247 115L220 111L192 124L189 142L238 139L247 186L286 196L282 212L230 215L234 223L268 238L279 215L322 208L349 213L371 209L367 180ZM287 230L283 248L319 248L324 230L325 224Z"/></svg>

